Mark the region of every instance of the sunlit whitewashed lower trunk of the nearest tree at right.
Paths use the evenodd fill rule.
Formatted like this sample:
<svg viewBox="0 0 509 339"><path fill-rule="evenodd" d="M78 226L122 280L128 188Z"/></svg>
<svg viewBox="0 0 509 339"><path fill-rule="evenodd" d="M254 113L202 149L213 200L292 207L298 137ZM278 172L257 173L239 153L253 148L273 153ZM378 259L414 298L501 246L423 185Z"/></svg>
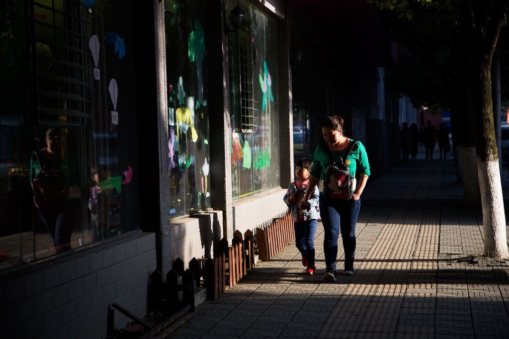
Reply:
<svg viewBox="0 0 509 339"><path fill-rule="evenodd" d="M497 260L507 259L509 251L498 161L494 158L486 162L477 159L477 167L480 193L483 197L484 255Z"/></svg>

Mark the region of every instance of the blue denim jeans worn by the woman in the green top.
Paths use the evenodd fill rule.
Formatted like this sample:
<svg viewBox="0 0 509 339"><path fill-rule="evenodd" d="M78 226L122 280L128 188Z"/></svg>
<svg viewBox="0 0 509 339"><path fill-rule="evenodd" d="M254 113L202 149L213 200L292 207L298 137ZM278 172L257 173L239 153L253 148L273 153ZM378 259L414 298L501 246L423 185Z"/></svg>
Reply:
<svg viewBox="0 0 509 339"><path fill-rule="evenodd" d="M324 228L323 251L326 268L336 268L337 238L341 231L345 263L355 257L355 224L360 211L360 199L326 199L320 195L320 216Z"/></svg>

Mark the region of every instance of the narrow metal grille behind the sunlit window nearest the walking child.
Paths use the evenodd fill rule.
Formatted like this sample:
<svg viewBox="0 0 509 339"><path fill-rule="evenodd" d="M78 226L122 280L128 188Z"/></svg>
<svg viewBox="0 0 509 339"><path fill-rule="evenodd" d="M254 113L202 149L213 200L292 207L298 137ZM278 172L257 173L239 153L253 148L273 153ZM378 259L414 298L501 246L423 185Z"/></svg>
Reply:
<svg viewBox="0 0 509 339"><path fill-rule="evenodd" d="M253 133L258 130L257 101L254 100L254 47L251 33L238 31L238 72L239 72L239 96L237 110L237 132Z"/></svg>

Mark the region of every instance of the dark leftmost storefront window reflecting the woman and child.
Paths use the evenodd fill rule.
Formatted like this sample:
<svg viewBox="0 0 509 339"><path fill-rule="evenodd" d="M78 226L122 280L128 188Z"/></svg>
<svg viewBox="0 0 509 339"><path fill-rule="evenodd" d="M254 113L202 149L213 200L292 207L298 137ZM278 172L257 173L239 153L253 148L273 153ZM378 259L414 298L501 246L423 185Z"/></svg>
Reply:
<svg viewBox="0 0 509 339"><path fill-rule="evenodd" d="M114 13L108 1L0 5L0 270L138 227Z"/></svg>

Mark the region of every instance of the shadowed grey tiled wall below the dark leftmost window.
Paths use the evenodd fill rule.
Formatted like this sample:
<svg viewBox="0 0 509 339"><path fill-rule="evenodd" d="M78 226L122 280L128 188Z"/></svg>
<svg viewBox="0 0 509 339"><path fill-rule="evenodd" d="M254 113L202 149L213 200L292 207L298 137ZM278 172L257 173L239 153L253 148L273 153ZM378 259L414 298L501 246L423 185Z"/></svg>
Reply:
<svg viewBox="0 0 509 339"><path fill-rule="evenodd" d="M0 338L101 338L108 306L147 313L155 235L137 233L0 275ZM115 310L115 325L131 320Z"/></svg>

